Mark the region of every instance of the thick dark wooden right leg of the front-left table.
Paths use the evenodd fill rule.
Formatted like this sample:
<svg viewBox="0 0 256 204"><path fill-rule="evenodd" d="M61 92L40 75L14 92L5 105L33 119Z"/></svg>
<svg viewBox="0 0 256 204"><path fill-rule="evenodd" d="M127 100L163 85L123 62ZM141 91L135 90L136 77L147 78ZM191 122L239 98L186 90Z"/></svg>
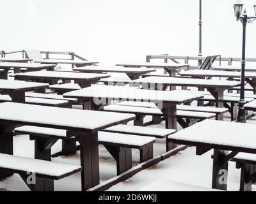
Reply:
<svg viewBox="0 0 256 204"><path fill-rule="evenodd" d="M86 191L100 182L98 133L84 133L79 136L79 143L83 168L81 172L82 191Z"/></svg>

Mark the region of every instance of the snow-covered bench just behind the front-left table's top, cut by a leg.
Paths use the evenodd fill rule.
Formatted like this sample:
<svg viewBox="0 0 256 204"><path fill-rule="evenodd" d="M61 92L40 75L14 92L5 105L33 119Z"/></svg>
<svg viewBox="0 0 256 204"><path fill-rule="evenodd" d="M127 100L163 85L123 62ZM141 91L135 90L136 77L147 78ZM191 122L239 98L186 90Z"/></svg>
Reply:
<svg viewBox="0 0 256 204"><path fill-rule="evenodd" d="M12 98L8 95L0 95L0 103L1 102L10 102ZM60 100L60 99L47 99L47 98L31 98L26 97L25 102L33 105L42 105L42 106L54 106L54 107L70 107L68 100Z"/></svg>

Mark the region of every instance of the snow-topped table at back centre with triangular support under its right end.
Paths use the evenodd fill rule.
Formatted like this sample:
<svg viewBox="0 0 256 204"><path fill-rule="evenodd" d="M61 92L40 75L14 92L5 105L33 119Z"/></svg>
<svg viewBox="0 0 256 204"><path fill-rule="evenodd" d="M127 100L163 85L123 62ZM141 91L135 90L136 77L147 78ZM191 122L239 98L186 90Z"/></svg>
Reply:
<svg viewBox="0 0 256 204"><path fill-rule="evenodd" d="M125 73L131 80L140 78L141 75L156 71L156 69L147 68L120 68L120 67L104 67L104 66L84 66L80 68L74 68L75 71L85 73L104 73L104 72L115 72Z"/></svg>

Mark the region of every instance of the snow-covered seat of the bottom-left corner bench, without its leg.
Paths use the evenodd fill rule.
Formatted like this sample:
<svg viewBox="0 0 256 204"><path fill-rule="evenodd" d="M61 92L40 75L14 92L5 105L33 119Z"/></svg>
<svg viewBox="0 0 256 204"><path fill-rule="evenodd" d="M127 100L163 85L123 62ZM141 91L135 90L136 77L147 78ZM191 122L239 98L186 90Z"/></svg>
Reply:
<svg viewBox="0 0 256 204"><path fill-rule="evenodd" d="M31 159L0 153L0 168L13 173L36 173L38 177L59 180L82 170L81 166Z"/></svg>

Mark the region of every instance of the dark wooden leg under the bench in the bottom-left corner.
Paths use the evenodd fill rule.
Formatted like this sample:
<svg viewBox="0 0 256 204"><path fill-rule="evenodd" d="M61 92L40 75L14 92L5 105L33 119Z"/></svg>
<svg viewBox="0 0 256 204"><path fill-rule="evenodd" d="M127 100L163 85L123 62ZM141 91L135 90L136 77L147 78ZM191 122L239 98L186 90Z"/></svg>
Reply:
<svg viewBox="0 0 256 204"><path fill-rule="evenodd" d="M24 180L30 191L54 191L53 179L43 179L36 176L33 178L34 175L31 173L28 173L28 175L20 173L20 177Z"/></svg>

